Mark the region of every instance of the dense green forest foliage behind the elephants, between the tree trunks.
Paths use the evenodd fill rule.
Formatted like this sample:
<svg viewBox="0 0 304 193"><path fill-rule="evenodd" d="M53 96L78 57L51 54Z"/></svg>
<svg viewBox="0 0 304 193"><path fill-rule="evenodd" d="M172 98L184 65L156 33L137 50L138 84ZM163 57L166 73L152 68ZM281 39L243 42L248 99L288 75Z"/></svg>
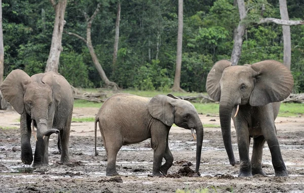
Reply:
<svg viewBox="0 0 304 193"><path fill-rule="evenodd" d="M97 4L100 11L91 25L91 40L98 61L110 81L121 88L168 90L173 85L177 27L177 0L120 1L119 46L113 63L118 1L68 0L62 36L59 73L75 87L102 87L88 46L68 34L87 35L87 20ZM247 0L247 29L239 65L273 59L283 62L282 26L255 22L281 18L279 0ZM29 75L45 71L50 53L55 12L49 0L3 1L4 76L13 69ZM287 1L290 20L303 20L304 1ZM205 91L213 64L230 60L233 37L240 21L234 0L183 2L180 87ZM291 71L294 92L304 92L304 26L290 26Z"/></svg>

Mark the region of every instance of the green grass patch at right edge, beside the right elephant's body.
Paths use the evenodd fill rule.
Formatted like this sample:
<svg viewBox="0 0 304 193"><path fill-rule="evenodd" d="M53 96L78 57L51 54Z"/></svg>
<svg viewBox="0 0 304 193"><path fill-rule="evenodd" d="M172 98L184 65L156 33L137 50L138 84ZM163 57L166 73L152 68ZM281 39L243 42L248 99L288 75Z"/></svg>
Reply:
<svg viewBox="0 0 304 193"><path fill-rule="evenodd" d="M279 117L298 117L304 114L304 104L282 103Z"/></svg>

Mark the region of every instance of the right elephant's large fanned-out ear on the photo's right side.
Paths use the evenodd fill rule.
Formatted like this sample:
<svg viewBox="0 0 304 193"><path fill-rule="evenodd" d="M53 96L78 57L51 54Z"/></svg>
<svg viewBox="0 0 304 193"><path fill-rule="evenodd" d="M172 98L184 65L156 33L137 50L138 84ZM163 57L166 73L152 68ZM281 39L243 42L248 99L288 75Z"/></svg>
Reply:
<svg viewBox="0 0 304 193"><path fill-rule="evenodd" d="M251 65L257 72L255 85L250 95L251 106L263 106L283 101L293 87L293 77L282 63L265 60Z"/></svg>

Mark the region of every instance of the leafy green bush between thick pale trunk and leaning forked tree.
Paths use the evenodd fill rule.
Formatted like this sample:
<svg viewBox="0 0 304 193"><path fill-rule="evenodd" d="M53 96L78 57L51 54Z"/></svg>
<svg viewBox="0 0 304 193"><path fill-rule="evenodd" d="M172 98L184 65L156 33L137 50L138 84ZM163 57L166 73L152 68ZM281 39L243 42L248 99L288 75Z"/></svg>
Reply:
<svg viewBox="0 0 304 193"><path fill-rule="evenodd" d="M85 65L83 55L75 52L61 53L59 73L74 87L92 87L89 80L88 66Z"/></svg>

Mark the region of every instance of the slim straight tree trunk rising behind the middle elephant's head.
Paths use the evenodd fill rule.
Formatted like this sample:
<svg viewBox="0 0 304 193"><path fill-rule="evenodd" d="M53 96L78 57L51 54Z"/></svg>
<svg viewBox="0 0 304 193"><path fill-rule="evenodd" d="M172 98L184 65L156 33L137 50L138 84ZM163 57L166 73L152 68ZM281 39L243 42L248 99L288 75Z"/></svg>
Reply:
<svg viewBox="0 0 304 193"><path fill-rule="evenodd" d="M178 0L178 31L177 31L177 53L173 91L184 91L180 88L181 71L181 49L182 49L182 28L183 28L183 0Z"/></svg>

